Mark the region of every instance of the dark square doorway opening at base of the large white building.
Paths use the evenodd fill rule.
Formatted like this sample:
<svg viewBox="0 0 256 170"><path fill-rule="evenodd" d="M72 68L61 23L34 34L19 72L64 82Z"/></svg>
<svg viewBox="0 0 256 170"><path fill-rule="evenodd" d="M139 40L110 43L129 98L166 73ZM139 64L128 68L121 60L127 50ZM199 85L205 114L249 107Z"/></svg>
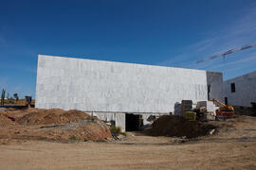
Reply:
<svg viewBox="0 0 256 170"><path fill-rule="evenodd" d="M139 114L125 114L125 131L139 131L143 126L142 115Z"/></svg>

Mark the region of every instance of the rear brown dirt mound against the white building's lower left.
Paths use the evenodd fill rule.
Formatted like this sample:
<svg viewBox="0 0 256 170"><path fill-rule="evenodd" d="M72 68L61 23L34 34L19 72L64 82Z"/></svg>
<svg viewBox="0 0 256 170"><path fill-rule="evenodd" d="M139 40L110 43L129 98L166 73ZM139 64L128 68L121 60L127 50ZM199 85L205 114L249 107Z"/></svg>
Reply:
<svg viewBox="0 0 256 170"><path fill-rule="evenodd" d="M21 125L48 125L73 122L90 117L80 110L34 110L18 119Z"/></svg>

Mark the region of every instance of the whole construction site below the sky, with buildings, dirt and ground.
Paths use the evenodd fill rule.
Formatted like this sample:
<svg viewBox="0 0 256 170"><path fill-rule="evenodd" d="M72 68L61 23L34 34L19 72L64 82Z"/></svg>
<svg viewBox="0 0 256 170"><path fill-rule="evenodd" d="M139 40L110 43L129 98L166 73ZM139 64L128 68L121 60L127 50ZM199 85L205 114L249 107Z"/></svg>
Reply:
<svg viewBox="0 0 256 170"><path fill-rule="evenodd" d="M1 167L255 169L255 89L256 72L39 55L35 101L2 93Z"/></svg>

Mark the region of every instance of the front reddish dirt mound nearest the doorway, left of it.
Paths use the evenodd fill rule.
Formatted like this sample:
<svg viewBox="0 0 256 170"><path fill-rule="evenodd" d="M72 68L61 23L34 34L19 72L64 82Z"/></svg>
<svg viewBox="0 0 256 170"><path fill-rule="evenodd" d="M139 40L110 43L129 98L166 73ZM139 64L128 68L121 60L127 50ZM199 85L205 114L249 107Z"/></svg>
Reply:
<svg viewBox="0 0 256 170"><path fill-rule="evenodd" d="M112 138L109 127L97 119L38 127L29 136L35 140L56 142L104 141Z"/></svg>

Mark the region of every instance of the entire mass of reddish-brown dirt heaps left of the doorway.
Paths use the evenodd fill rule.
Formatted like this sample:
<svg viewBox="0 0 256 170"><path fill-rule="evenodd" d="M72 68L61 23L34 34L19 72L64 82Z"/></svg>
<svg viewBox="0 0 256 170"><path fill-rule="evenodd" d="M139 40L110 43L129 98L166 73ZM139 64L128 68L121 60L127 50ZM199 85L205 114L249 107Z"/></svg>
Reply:
<svg viewBox="0 0 256 170"><path fill-rule="evenodd" d="M104 141L107 138L112 138L109 127L80 110L0 112L0 139L69 142Z"/></svg>

